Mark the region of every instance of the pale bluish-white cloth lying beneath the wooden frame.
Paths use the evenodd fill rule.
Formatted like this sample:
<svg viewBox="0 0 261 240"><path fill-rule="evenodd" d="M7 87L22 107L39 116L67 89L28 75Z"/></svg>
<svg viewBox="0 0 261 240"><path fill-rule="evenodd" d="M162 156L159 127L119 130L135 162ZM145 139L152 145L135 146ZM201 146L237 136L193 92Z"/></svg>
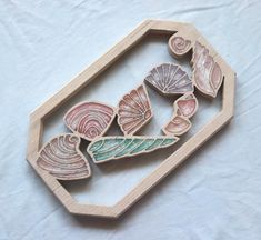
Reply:
<svg viewBox="0 0 261 240"><path fill-rule="evenodd" d="M0 1L0 239L259 240L260 12L259 0ZM237 71L235 117L119 220L70 216L26 162L29 113L148 18L195 24ZM79 98L116 104L132 86L124 78L138 83L152 63L170 59L154 39L107 76L116 98L104 93L108 84ZM59 118L44 138L64 131L54 124ZM142 171L133 167L134 177L124 178L128 168L119 164L123 173L113 164L94 171L106 179L68 188L82 202L111 204L151 170L150 162ZM88 189L94 193L80 193Z"/></svg>

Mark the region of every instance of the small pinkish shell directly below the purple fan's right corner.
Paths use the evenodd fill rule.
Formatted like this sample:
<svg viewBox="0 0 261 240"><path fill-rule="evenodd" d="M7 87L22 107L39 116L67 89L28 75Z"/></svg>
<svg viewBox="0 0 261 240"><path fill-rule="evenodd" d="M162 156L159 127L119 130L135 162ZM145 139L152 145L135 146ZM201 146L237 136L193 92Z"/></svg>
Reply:
<svg viewBox="0 0 261 240"><path fill-rule="evenodd" d="M198 109L198 100L193 93L184 94L175 100L174 109L178 109L179 116L191 118Z"/></svg>

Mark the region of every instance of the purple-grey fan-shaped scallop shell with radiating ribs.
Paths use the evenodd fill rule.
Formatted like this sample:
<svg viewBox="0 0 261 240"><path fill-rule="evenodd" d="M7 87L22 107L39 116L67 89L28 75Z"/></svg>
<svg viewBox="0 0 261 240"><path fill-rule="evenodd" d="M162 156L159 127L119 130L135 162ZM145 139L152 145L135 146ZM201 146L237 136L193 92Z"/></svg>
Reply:
<svg viewBox="0 0 261 240"><path fill-rule="evenodd" d="M164 96L183 94L193 91L188 73L174 63L163 63L153 68L145 81Z"/></svg>

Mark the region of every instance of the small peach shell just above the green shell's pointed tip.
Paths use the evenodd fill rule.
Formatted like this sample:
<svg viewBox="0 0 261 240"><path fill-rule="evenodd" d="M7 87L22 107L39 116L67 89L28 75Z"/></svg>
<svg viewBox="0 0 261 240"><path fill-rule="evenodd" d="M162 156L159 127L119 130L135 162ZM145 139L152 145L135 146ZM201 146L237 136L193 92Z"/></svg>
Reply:
<svg viewBox="0 0 261 240"><path fill-rule="evenodd" d="M189 119L175 114L170 122L168 122L162 131L167 136L181 136L189 131L191 128L191 122Z"/></svg>

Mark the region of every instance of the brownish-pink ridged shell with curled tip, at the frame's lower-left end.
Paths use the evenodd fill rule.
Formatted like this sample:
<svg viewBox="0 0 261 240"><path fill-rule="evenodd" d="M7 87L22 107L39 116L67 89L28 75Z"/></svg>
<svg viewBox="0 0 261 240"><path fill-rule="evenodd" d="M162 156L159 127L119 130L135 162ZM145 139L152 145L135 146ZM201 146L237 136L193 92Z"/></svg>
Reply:
<svg viewBox="0 0 261 240"><path fill-rule="evenodd" d="M37 164L60 180L84 179L91 170L79 150L80 138L62 134L51 139L39 152Z"/></svg>

